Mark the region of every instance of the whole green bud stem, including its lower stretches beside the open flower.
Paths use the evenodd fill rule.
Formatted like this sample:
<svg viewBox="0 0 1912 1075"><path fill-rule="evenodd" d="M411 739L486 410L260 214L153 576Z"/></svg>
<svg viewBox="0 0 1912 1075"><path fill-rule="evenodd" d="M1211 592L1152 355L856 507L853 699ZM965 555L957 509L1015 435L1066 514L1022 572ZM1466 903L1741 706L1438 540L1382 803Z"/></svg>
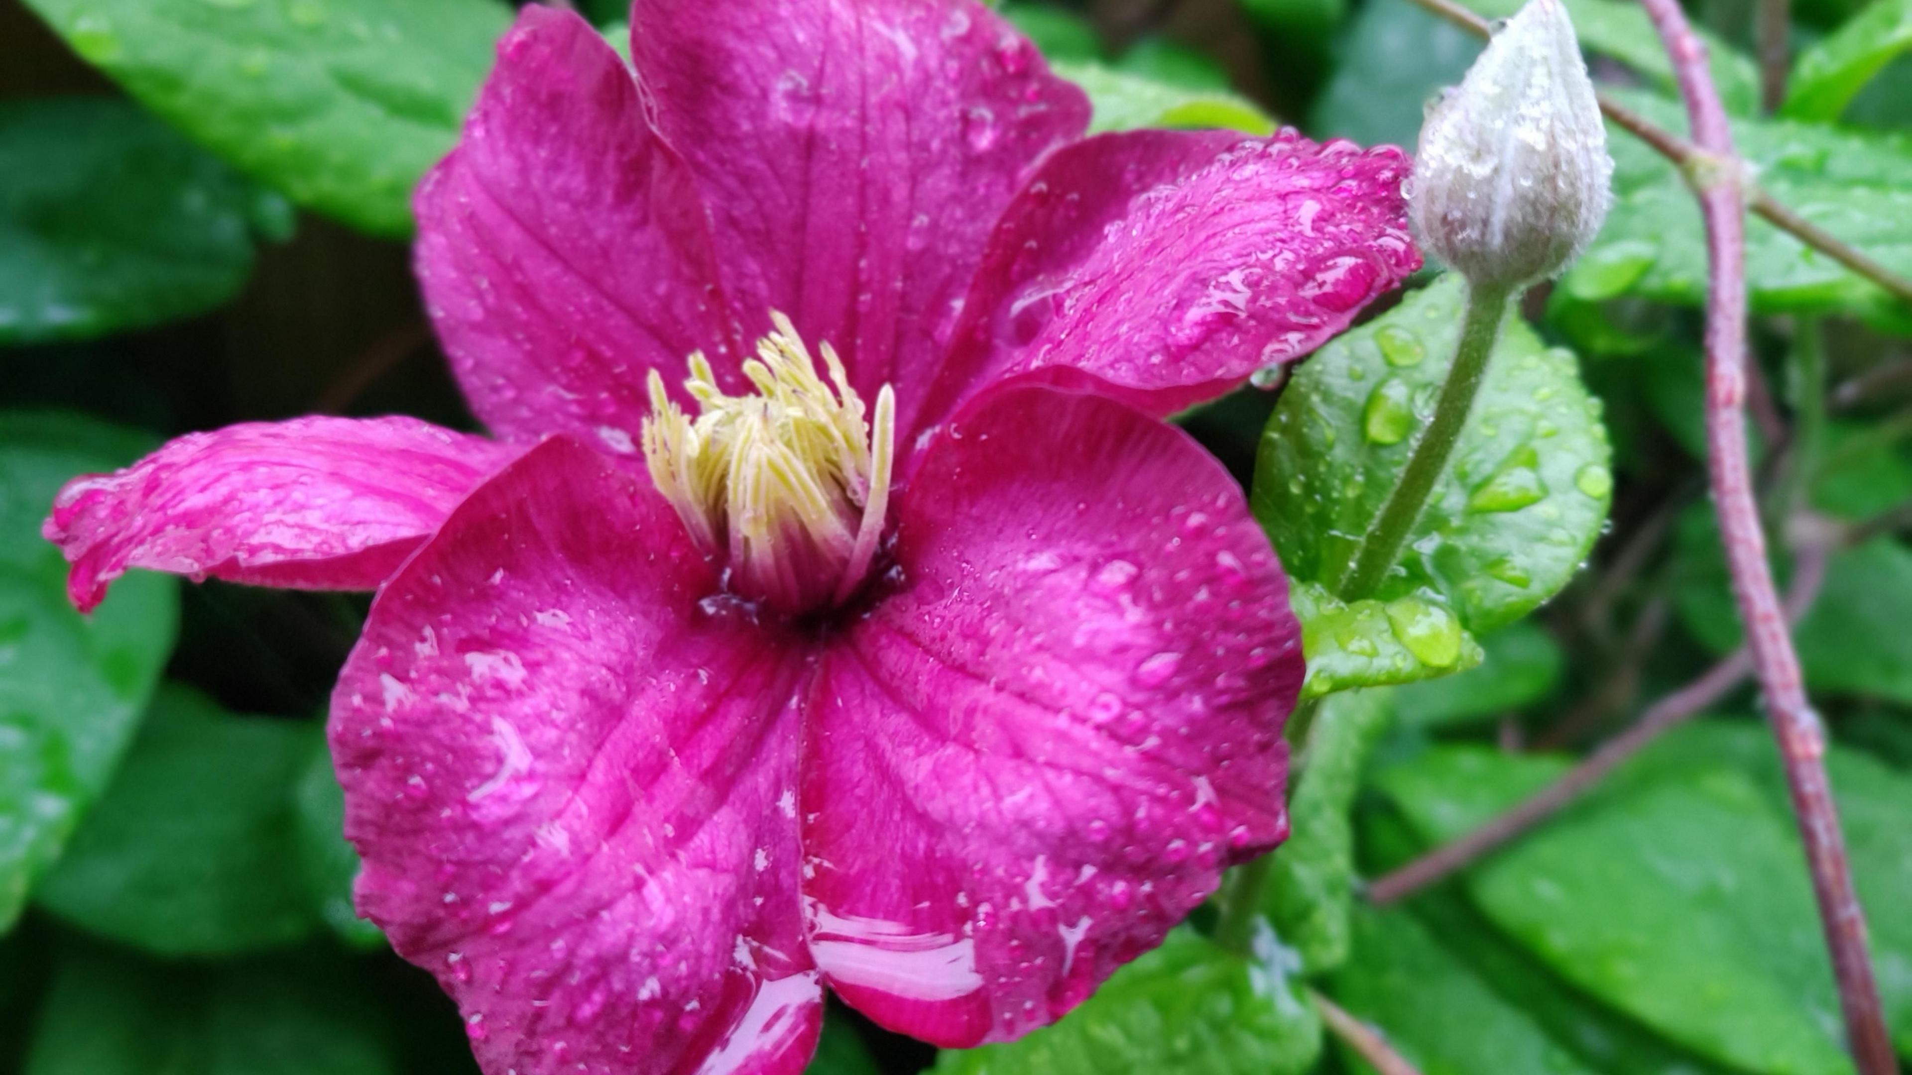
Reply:
<svg viewBox="0 0 1912 1075"><path fill-rule="evenodd" d="M1467 415L1474 409L1474 396L1488 377L1488 358L1493 356L1493 342L1501 335L1507 319L1507 289L1467 289L1467 316L1461 321L1461 340L1455 346L1453 365L1447 369L1447 383L1442 384L1440 400L1434 402L1434 417L1415 442L1413 455L1401 471L1401 482L1394 486L1388 503L1382 505L1375 528L1354 560L1354 566L1333 587L1342 601L1371 597L1394 570L1407 536L1413 532L1421 511L1426 509L1428 495L1453 457L1453 446L1461 442ZM1315 706L1306 702L1289 715L1289 742L1296 754L1308 742L1314 725ZM1289 773L1293 779L1293 773ZM1214 928L1214 943L1249 954L1254 943L1254 926L1262 918L1262 899L1268 889L1268 872L1273 859L1262 855L1229 870L1228 888L1222 891L1222 918Z"/></svg>

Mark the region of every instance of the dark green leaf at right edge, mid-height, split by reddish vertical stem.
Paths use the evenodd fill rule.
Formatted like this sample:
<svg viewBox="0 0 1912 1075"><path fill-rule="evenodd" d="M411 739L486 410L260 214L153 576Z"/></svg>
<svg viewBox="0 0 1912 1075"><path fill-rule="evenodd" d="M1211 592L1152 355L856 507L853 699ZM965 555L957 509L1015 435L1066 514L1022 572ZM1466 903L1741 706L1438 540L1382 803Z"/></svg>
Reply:
<svg viewBox="0 0 1912 1075"><path fill-rule="evenodd" d="M1719 528L1706 505L1679 522L1673 601L1681 622L1713 652L1740 645ZM1807 687L1912 702L1912 549L1879 536L1832 553L1813 608L1793 629Z"/></svg>

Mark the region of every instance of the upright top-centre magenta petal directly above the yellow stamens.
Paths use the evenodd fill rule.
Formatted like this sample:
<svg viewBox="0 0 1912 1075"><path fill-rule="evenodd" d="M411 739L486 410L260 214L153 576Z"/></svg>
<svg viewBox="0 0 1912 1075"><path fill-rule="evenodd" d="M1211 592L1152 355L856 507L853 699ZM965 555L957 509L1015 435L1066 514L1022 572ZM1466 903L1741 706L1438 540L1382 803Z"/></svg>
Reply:
<svg viewBox="0 0 1912 1075"><path fill-rule="evenodd" d="M1088 99L973 0L639 0L631 57L696 170L725 283L922 392L983 241Z"/></svg>

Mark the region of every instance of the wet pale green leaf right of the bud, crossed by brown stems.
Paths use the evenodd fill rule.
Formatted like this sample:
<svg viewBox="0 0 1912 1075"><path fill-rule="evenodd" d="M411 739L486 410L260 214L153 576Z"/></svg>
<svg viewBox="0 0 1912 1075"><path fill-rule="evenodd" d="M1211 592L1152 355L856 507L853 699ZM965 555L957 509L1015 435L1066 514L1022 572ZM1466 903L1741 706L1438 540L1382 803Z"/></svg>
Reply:
<svg viewBox="0 0 1912 1075"><path fill-rule="evenodd" d="M1663 98L1616 92L1648 121L1684 134L1684 111ZM1742 119L1734 145L1759 184L1782 205L1855 243L1887 270L1912 274L1912 140L1828 126ZM1692 193L1665 157L1608 124L1614 208L1600 235L1562 277L1633 266L1625 295L1700 306L1706 298L1706 235ZM1855 314L1895 333L1912 333L1912 310L1826 254L1757 216L1746 222L1746 277L1755 314ZM1612 291L1612 289L1608 289Z"/></svg>

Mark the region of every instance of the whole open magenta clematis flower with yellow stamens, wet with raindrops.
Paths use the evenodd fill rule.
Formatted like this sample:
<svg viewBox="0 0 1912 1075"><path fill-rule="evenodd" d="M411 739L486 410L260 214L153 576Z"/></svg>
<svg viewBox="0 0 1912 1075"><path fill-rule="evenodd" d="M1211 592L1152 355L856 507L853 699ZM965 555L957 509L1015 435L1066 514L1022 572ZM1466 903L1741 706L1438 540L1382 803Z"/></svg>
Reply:
<svg viewBox="0 0 1912 1075"><path fill-rule="evenodd" d="M824 989L1054 1021L1287 832L1302 681L1161 419L1419 266L1396 149L1082 140L969 0L530 6L417 195L495 440L195 434L69 486L128 566L379 587L333 696L359 910L491 1075L797 1071Z"/></svg>

